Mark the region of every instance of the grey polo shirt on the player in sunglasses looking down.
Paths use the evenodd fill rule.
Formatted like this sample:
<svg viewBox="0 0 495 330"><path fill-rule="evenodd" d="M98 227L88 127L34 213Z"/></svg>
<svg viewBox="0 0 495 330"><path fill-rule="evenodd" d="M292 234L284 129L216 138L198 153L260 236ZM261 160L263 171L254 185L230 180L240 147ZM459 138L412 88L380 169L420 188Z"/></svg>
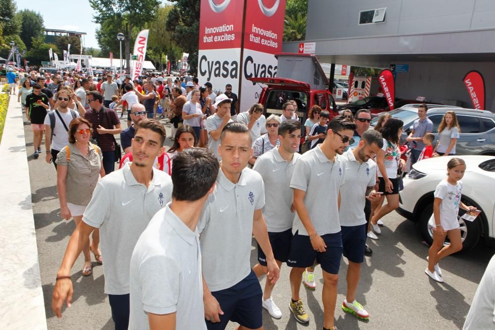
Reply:
<svg viewBox="0 0 495 330"><path fill-rule="evenodd" d="M344 184L345 168L339 157L335 163L325 156L318 144L304 153L296 162L291 188L306 191L304 205L316 233L320 236L340 232L339 189ZM292 232L308 236L296 212Z"/></svg>

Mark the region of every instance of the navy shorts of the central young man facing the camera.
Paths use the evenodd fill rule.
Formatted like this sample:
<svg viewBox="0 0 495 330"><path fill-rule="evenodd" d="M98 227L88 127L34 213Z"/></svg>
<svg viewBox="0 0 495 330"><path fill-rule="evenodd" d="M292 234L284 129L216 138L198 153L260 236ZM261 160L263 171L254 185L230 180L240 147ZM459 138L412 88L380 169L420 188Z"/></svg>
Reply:
<svg viewBox="0 0 495 330"><path fill-rule="evenodd" d="M208 330L223 330L229 321L239 323L249 329L258 329L263 325L261 314L261 301L263 292L254 272L247 275L244 280L228 289L213 291L211 294L216 298L223 311L220 322L206 321Z"/></svg>

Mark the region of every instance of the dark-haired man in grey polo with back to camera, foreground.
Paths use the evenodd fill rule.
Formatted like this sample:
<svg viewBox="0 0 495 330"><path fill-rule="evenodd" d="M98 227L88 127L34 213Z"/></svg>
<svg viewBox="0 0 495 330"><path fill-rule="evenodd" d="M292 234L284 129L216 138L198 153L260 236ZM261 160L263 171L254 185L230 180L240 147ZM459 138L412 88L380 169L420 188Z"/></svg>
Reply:
<svg viewBox="0 0 495 330"><path fill-rule="evenodd" d="M174 158L172 202L151 219L132 254L129 329L206 329L196 226L217 175L208 149Z"/></svg>

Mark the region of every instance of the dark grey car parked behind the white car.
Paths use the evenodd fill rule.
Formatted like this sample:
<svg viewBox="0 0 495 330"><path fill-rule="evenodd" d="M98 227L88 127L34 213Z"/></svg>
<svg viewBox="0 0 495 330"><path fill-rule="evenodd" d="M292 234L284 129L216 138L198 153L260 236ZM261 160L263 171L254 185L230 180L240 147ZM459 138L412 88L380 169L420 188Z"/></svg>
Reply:
<svg viewBox="0 0 495 330"><path fill-rule="evenodd" d="M438 127L447 111L454 111L460 126L460 136L456 143L457 155L491 155L495 156L495 114L486 110L441 106L429 108L426 116L433 122L433 132L437 143ZM405 143L411 133L412 124L418 119L417 106L403 106L390 111L392 117L402 119L404 130L401 143ZM376 125L378 118L371 121L371 127Z"/></svg>

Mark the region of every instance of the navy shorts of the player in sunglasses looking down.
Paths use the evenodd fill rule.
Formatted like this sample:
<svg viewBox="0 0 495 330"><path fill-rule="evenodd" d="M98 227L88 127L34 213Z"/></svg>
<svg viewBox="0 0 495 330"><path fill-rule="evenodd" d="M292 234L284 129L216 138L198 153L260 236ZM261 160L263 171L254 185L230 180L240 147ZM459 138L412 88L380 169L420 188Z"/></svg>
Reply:
<svg viewBox="0 0 495 330"><path fill-rule="evenodd" d="M321 269L329 274L339 274L340 261L342 259L342 234L326 234L321 236L327 245L325 252L313 249L309 236L296 233L292 237L291 252L287 259L289 267L310 267L314 260L321 265ZM364 251L364 248L363 248Z"/></svg>

